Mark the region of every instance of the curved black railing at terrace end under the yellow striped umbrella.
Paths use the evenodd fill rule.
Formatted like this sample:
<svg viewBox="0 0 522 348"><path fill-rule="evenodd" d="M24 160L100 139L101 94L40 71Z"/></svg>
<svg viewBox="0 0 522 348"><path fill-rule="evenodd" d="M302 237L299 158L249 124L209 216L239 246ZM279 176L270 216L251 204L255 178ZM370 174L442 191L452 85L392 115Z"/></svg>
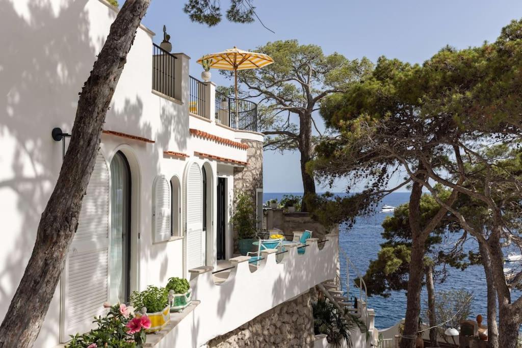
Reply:
<svg viewBox="0 0 522 348"><path fill-rule="evenodd" d="M216 92L216 122L235 129L257 131L257 104Z"/></svg>

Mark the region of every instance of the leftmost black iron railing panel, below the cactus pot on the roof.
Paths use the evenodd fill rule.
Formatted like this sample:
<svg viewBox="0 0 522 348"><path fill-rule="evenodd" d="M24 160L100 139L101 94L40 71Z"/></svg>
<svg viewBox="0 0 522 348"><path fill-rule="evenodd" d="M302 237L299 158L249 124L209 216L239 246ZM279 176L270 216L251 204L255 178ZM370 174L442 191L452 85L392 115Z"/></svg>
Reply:
<svg viewBox="0 0 522 348"><path fill-rule="evenodd" d="M174 63L176 57L152 44L152 89L174 97Z"/></svg>

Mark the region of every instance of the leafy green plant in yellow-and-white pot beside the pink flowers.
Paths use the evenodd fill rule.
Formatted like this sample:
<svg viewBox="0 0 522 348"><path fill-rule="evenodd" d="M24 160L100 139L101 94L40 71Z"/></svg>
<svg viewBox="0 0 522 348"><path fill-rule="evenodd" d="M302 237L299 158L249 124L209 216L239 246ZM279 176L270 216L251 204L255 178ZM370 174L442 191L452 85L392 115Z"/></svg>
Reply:
<svg viewBox="0 0 522 348"><path fill-rule="evenodd" d="M170 321L169 292L164 287L149 285L144 291L133 291L130 300L140 311L137 317L150 319L151 326L146 332L160 331Z"/></svg>

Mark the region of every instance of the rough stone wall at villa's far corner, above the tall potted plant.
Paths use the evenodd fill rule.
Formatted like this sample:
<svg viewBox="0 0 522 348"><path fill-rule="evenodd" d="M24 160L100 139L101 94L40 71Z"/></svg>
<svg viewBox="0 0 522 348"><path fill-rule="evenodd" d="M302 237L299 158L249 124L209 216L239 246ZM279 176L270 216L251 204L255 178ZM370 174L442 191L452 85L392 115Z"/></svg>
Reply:
<svg viewBox="0 0 522 348"><path fill-rule="evenodd" d="M263 188L263 142L241 140L249 146L246 151L246 167L234 167L234 200L242 193L251 195L256 201L256 188ZM238 252L238 233L234 231L234 253Z"/></svg>

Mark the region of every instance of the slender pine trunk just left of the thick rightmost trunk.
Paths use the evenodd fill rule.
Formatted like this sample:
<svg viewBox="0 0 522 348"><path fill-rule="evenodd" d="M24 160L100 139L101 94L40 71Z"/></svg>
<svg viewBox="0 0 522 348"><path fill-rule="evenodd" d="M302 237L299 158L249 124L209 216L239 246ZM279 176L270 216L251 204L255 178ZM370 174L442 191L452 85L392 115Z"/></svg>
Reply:
<svg viewBox="0 0 522 348"><path fill-rule="evenodd" d="M499 328L496 325L496 287L487 247L479 243L482 265L488 290L488 348L499 348Z"/></svg>

